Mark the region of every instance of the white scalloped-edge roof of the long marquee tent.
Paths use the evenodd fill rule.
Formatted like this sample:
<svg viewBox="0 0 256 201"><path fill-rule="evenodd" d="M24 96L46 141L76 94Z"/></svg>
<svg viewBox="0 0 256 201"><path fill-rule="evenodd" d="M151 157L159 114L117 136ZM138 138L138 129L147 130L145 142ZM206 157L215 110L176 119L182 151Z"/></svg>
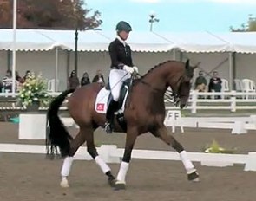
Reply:
<svg viewBox="0 0 256 201"><path fill-rule="evenodd" d="M115 39L115 32L87 30L79 31L79 51L108 51L108 44ZM13 49L12 29L1 29L0 50ZM183 52L256 53L256 32L230 33L177 33L135 32L128 38L133 51L167 52L180 49ZM75 50L74 30L17 29L16 49L21 51L60 49Z"/></svg>

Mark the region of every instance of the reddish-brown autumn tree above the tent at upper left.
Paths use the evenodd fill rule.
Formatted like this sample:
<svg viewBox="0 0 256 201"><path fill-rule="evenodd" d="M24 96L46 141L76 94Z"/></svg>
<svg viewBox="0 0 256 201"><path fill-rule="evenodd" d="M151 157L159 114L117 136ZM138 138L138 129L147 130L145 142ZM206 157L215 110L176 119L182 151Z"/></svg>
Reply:
<svg viewBox="0 0 256 201"><path fill-rule="evenodd" d="M12 7L13 0L0 0L0 28L12 28ZM17 0L17 28L98 28L102 24L101 13L85 7L83 0Z"/></svg>

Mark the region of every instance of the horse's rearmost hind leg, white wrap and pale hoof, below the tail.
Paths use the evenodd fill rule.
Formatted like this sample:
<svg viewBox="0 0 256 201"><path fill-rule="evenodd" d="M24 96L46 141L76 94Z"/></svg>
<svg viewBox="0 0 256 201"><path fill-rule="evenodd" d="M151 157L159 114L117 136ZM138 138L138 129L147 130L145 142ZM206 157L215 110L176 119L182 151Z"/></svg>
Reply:
<svg viewBox="0 0 256 201"><path fill-rule="evenodd" d="M82 130L80 129L79 133L75 136L75 139L73 139L70 142L69 156L67 156L63 161L62 171L61 171L62 181L60 184L63 188L69 187L68 177L69 177L69 172L71 170L71 166L74 160L73 156L75 155L75 152L77 151L77 149L80 146L82 146L84 142L85 142L85 135L84 133L82 133Z"/></svg>

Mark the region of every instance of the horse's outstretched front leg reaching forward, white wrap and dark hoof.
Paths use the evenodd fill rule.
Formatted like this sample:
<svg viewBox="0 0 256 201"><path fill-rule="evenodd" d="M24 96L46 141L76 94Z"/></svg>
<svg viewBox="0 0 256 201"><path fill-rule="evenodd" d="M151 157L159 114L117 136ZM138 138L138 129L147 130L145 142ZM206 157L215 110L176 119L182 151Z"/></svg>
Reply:
<svg viewBox="0 0 256 201"><path fill-rule="evenodd" d="M156 137L159 137L163 140L167 145L172 146L177 152L180 154L181 161L186 169L187 178L190 181L199 181L199 174L196 171L193 163L187 157L187 152L184 150L181 143L174 139L174 136L167 133L167 127L161 126L156 131L153 132Z"/></svg>

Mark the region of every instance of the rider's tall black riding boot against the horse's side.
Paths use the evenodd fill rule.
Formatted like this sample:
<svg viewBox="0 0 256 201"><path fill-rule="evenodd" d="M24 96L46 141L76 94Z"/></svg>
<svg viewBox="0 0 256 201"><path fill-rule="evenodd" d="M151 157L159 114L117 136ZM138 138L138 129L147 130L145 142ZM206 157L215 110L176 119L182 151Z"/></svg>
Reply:
<svg viewBox="0 0 256 201"><path fill-rule="evenodd" d="M111 100L108 106L108 110L106 113L106 119L107 122L105 123L105 131L106 133L112 133L113 128L114 128L114 117L115 117L115 111L118 107L118 102L115 100Z"/></svg>

